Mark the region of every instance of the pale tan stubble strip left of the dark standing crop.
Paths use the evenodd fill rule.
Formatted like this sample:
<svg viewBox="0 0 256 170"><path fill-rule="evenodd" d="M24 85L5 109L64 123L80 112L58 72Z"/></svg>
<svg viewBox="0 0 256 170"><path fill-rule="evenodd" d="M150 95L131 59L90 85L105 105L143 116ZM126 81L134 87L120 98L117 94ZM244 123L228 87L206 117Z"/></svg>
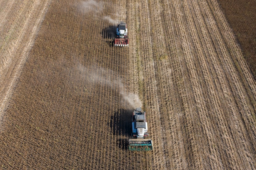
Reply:
<svg viewBox="0 0 256 170"><path fill-rule="evenodd" d="M49 1L2 0L0 3L0 112L2 113L8 106L7 101L34 43Z"/></svg>

